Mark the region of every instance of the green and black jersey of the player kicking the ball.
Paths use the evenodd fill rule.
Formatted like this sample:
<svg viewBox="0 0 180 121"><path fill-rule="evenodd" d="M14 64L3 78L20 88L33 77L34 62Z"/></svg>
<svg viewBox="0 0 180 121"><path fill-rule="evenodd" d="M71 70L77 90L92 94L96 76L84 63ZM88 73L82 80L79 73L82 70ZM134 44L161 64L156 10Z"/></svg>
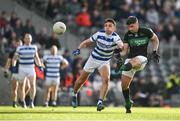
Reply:
<svg viewBox="0 0 180 121"><path fill-rule="evenodd" d="M138 55L147 57L147 47L153 31L149 28L139 28L137 33L127 32L124 36L124 43L128 43L130 52L128 58Z"/></svg>

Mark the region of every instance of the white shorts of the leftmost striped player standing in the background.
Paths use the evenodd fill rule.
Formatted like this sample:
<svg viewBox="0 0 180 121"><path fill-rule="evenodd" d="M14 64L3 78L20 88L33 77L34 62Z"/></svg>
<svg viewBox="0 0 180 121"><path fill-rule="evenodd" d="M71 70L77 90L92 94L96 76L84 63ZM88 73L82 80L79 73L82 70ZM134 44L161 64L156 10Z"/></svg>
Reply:
<svg viewBox="0 0 180 121"><path fill-rule="evenodd" d="M23 68L19 67L19 81L22 82L27 77L33 77L36 76L36 72L34 68Z"/></svg>

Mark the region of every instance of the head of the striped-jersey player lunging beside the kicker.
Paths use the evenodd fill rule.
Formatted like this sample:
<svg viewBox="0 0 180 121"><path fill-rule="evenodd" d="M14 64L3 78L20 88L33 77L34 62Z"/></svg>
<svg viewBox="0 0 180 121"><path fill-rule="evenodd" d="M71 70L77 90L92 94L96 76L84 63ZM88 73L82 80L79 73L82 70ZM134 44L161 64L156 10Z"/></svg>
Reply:
<svg viewBox="0 0 180 121"><path fill-rule="evenodd" d="M112 34L112 32L114 32L116 30L116 27L113 23L107 22L104 24L104 30L105 30L106 34L110 35L110 34Z"/></svg>

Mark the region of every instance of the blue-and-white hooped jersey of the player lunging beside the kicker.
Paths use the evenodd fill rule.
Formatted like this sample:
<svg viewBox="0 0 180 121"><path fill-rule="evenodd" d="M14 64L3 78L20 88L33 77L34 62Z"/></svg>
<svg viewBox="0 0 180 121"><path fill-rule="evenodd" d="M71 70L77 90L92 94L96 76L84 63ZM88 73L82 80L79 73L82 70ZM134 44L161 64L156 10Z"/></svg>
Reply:
<svg viewBox="0 0 180 121"><path fill-rule="evenodd" d="M104 30L96 32L90 37L90 40L96 42L96 47L91 52L91 56L101 61L110 60L117 44L122 43L117 33L113 32L111 35L107 35Z"/></svg>

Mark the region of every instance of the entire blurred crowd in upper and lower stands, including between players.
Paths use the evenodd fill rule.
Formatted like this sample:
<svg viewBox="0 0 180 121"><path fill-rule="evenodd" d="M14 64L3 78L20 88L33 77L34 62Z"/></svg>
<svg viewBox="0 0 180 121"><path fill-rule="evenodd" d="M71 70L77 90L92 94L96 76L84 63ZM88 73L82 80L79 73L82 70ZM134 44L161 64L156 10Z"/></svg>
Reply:
<svg viewBox="0 0 180 121"><path fill-rule="evenodd" d="M22 2L22 0L19 0ZM134 15L145 26L150 26L159 36L160 41L170 43L172 40L180 40L180 0L23 0L23 4L29 9L36 8L36 12L44 15L50 21L64 21L71 29L70 32L75 35L88 35L103 27L103 21L106 17L114 18L118 23L118 33L123 34L126 31L125 19ZM42 13L43 11L43 13ZM4 66L9 52L15 48L16 38L22 39L24 33L32 35L33 43L41 49L49 49L51 45L57 45L60 49L61 44L54 33L50 36L47 29L43 28L39 33L36 32L36 25L32 24L31 19L25 23L23 18L19 18L17 13L12 11L0 11L0 65ZM77 31L77 27L80 28ZM122 35L121 35L122 36ZM179 42L178 42L179 43ZM42 54L41 54L42 56ZM71 57L71 50L66 49L63 56L69 61L70 65L61 72L62 88L70 89L74 81L81 73L85 60L77 56ZM2 58L4 57L4 58ZM115 64L112 64L111 81L118 83L120 74L114 72ZM93 88L96 72L87 80L87 86ZM176 78L176 91L174 83L163 80L156 81L154 77L144 80L138 75L132 83L132 96L139 105L142 106L162 106L163 98L168 98L169 93L180 93L180 79ZM41 85L41 84L40 84ZM110 89L111 90L111 89ZM166 91L168 93L166 93ZM113 91L110 91L113 95ZM110 96L112 97L112 96ZM108 98L111 102L111 98Z"/></svg>

